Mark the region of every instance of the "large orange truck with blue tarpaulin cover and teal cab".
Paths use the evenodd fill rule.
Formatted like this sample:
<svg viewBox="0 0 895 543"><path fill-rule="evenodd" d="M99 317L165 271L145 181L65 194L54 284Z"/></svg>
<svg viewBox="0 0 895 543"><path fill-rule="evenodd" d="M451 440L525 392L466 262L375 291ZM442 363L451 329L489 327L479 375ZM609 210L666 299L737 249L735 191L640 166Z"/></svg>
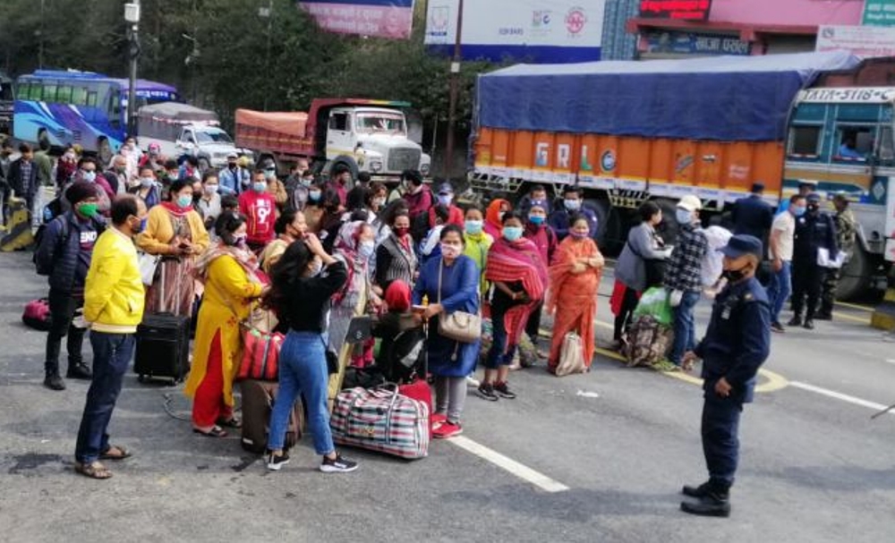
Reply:
<svg viewBox="0 0 895 543"><path fill-rule="evenodd" d="M828 198L848 192L862 226L840 283L841 297L855 296L882 266L895 227L884 220L887 203L890 222L895 212L892 101L837 102L810 87L858 64L834 52L519 65L484 74L471 184L520 194L533 183L556 191L577 184L598 212L600 241L618 247L629 209L645 200L673 217L674 202L695 194L711 217L753 182L763 182L765 199L777 205L798 180L819 181ZM865 95L852 90L848 96ZM857 134L865 159L837 157L846 132Z"/></svg>

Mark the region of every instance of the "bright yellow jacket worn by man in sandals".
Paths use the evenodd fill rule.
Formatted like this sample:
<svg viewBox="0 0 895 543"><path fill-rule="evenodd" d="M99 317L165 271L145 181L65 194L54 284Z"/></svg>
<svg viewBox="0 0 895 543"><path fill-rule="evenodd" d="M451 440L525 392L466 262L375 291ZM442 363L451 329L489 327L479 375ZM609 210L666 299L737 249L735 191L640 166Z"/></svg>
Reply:
<svg viewBox="0 0 895 543"><path fill-rule="evenodd" d="M143 281L133 242L115 227L100 234L84 286L84 318L91 329L133 334L143 319Z"/></svg>

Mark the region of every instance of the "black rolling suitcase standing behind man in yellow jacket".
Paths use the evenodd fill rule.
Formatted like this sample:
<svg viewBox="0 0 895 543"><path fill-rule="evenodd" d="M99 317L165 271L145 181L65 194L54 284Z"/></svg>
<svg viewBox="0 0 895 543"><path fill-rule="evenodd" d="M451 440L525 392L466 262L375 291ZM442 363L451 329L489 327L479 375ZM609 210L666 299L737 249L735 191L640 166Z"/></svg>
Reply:
<svg viewBox="0 0 895 543"><path fill-rule="evenodd" d="M159 288L165 291L165 267L160 267ZM176 284L180 285L181 277ZM164 300L165 296L161 296ZM165 308L162 308L163 310ZM190 371L191 316L167 312L149 313L137 327L133 370L142 383L148 378L168 378L180 383Z"/></svg>

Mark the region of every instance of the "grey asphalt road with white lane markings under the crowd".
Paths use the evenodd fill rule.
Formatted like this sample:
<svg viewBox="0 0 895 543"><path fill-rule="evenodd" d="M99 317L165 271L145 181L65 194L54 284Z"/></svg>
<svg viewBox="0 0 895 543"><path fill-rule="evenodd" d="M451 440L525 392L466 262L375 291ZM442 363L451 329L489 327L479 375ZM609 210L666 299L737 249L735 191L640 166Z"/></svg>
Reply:
<svg viewBox="0 0 895 543"><path fill-rule="evenodd" d="M78 477L87 385L40 386L44 335L20 321L45 285L29 254L0 254L3 541L895 540L895 417L870 420L895 402L895 344L865 310L774 335L771 378L743 417L734 511L720 520L678 511L680 486L706 477L700 389L604 355L584 376L516 372L517 400L469 398L463 439L418 462L353 451L362 465L348 475L315 471L308 437L268 473L235 437L197 437L166 414L166 395L189 413L177 389L129 375L111 433L136 455L108 481ZM605 342L606 298L599 319Z"/></svg>

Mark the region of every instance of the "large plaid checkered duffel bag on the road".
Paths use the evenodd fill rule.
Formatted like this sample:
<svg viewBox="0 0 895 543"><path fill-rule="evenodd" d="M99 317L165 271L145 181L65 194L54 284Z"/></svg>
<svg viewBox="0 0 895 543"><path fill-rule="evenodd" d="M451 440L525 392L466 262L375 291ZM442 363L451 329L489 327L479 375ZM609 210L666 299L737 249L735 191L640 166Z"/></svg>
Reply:
<svg viewBox="0 0 895 543"><path fill-rule="evenodd" d="M339 393L329 424L340 445L413 460L429 454L429 419L428 405L386 385Z"/></svg>

